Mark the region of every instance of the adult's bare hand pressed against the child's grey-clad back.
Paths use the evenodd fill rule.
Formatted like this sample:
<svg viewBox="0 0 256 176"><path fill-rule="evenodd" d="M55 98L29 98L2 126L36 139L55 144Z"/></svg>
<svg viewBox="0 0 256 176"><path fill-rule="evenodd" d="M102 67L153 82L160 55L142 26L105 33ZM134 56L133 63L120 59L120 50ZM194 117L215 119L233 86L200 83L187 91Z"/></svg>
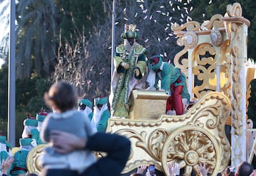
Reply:
<svg viewBox="0 0 256 176"><path fill-rule="evenodd" d="M50 145L58 153L70 153L73 150L85 148L87 139L71 133L53 130L50 133Z"/></svg>

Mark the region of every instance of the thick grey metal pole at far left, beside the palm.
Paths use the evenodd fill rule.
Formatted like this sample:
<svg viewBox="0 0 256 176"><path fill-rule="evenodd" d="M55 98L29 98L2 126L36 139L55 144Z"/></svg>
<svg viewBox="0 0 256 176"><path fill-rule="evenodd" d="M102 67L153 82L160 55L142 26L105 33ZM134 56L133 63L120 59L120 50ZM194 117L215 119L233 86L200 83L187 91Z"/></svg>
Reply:
<svg viewBox="0 0 256 176"><path fill-rule="evenodd" d="M16 89L15 89L15 0L10 3L10 32L9 32L9 79L8 79L8 141L12 146L15 143L15 111L16 111Z"/></svg>

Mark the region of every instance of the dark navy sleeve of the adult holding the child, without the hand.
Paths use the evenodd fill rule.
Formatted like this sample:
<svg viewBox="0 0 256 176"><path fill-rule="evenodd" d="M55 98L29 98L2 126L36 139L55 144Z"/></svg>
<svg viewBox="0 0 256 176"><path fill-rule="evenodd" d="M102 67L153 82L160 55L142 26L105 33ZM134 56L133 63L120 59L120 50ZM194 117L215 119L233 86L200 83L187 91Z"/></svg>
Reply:
<svg viewBox="0 0 256 176"><path fill-rule="evenodd" d="M124 136L99 132L87 139L85 149L105 152L107 156L97 160L82 175L119 176L129 158L131 142Z"/></svg>

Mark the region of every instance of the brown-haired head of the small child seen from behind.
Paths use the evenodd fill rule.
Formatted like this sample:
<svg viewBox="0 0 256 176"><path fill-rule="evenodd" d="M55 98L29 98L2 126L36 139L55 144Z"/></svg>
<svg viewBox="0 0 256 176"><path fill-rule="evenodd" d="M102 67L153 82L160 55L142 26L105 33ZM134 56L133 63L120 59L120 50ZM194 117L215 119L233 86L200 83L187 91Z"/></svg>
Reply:
<svg viewBox="0 0 256 176"><path fill-rule="evenodd" d="M72 84L61 81L53 84L44 98L46 104L50 106L54 105L63 112L75 107L78 92Z"/></svg>

